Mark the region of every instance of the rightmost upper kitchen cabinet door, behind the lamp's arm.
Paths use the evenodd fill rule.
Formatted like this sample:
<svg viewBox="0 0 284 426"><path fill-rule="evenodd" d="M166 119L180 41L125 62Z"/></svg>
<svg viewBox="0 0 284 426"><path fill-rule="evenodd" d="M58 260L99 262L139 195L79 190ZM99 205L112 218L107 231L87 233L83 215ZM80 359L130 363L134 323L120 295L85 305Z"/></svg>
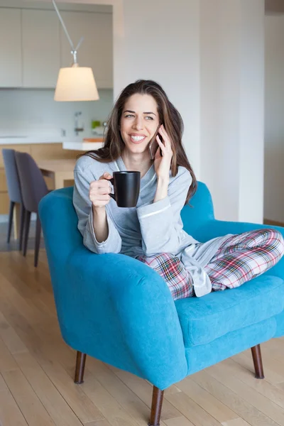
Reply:
<svg viewBox="0 0 284 426"><path fill-rule="evenodd" d="M92 67L99 89L113 87L113 43L112 14L62 12L68 33L75 47L83 36L84 40L77 52L77 62L81 67ZM70 44L60 28L61 66L69 67L72 63Z"/></svg>

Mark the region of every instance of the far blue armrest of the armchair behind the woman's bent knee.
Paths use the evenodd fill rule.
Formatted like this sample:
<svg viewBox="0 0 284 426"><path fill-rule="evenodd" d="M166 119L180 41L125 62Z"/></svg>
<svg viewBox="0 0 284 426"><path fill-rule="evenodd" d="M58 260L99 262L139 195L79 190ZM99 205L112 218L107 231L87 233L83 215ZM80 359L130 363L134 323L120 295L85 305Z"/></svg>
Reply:
<svg viewBox="0 0 284 426"><path fill-rule="evenodd" d="M246 231L266 228L277 229L284 236L284 228L282 226L251 224L249 222L226 222L212 219L208 222L205 222L202 224L202 226L200 226L199 229L197 229L195 232L195 238L204 242L217 236L224 236L226 234L241 234ZM275 275L284 280L284 256L267 273L269 275Z"/></svg>

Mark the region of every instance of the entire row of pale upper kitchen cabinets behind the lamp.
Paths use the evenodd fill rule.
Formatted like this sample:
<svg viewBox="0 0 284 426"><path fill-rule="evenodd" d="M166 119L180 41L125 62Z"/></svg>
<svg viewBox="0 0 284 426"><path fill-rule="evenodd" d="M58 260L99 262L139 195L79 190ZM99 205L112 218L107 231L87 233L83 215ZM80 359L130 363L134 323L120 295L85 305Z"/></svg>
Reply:
<svg viewBox="0 0 284 426"><path fill-rule="evenodd" d="M112 14L62 11L77 58L92 67L99 89L113 87ZM70 44L53 10L0 7L0 87L54 89L60 67L72 64Z"/></svg>

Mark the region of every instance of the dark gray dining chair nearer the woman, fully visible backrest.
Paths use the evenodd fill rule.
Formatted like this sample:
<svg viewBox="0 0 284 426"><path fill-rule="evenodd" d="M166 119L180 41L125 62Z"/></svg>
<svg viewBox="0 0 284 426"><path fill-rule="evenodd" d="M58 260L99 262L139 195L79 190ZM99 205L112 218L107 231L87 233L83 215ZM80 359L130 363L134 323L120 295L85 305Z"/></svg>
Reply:
<svg viewBox="0 0 284 426"><path fill-rule="evenodd" d="M24 219L24 234L23 234L23 256L26 256L28 246L28 234L31 223L31 213L36 214L35 227L35 258L34 266L38 266L38 251L40 248L40 233L41 224L38 215L38 203L48 194L49 190L46 186L38 165L33 160L33 157L28 153L15 153L16 165L18 168L18 176L21 186L21 194L23 197L23 205L26 209Z"/></svg>

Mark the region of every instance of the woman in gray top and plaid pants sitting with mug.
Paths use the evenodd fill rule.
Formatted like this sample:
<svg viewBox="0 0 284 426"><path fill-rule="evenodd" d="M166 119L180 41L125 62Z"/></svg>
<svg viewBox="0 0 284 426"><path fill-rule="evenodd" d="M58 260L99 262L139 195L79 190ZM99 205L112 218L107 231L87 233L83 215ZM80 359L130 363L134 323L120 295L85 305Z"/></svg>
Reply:
<svg viewBox="0 0 284 426"><path fill-rule="evenodd" d="M159 148L151 160L148 147L157 131ZM129 84L111 112L104 148L77 161L73 199L89 250L146 263L164 278L174 299L238 287L275 265L284 252L275 229L204 244L182 229L180 211L197 187L182 131L181 116L159 84ZM136 207L117 207L109 196L116 170L141 172Z"/></svg>

